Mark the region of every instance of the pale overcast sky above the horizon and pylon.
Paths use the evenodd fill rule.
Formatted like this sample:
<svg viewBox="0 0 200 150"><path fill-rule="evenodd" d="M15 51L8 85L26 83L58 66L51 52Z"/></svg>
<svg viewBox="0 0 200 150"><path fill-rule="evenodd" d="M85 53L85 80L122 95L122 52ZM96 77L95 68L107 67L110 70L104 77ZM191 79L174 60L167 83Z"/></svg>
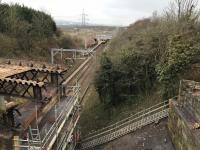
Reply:
<svg viewBox="0 0 200 150"><path fill-rule="evenodd" d="M162 12L170 0L2 0L24 4L51 14L56 20L81 21L83 9L93 24L129 25L148 17L153 11Z"/></svg>

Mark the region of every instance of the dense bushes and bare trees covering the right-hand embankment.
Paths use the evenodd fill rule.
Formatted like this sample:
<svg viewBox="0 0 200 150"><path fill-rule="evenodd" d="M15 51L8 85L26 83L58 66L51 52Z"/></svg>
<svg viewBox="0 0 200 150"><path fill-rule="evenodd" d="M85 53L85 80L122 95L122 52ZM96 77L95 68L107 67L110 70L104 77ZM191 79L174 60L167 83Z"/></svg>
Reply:
<svg viewBox="0 0 200 150"><path fill-rule="evenodd" d="M161 16L139 20L111 42L102 56L95 87L106 105L117 105L159 89L176 96L181 78L200 54L196 0L174 0Z"/></svg>

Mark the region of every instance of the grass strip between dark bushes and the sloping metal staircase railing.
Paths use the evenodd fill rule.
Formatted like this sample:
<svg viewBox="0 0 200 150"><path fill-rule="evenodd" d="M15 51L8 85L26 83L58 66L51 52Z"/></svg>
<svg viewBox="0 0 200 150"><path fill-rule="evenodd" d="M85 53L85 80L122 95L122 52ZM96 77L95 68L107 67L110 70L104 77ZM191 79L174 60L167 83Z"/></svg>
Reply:
<svg viewBox="0 0 200 150"><path fill-rule="evenodd" d="M154 92L152 95L124 101L116 107L106 108L100 102L94 87L91 87L85 97L85 104L80 118L81 133L83 136L87 135L161 101L160 93Z"/></svg>

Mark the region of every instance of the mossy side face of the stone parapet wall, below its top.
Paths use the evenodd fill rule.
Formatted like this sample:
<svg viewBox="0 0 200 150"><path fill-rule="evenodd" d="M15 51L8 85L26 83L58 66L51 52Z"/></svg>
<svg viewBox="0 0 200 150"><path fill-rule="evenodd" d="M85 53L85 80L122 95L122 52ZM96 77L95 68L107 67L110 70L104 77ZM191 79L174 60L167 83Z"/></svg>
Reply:
<svg viewBox="0 0 200 150"><path fill-rule="evenodd" d="M199 131L192 128L195 118L176 105L176 102L170 102L168 118L168 129L176 150L199 150Z"/></svg>

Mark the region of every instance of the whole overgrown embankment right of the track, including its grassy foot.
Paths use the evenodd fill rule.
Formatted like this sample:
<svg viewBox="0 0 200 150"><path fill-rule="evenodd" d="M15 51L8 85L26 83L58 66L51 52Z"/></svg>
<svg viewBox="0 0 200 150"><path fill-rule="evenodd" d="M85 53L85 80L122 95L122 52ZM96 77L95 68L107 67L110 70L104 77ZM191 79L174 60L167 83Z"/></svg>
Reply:
<svg viewBox="0 0 200 150"><path fill-rule="evenodd" d="M181 79L200 80L199 9L185 2L180 12L154 14L112 39L82 113L84 135L175 97Z"/></svg>

